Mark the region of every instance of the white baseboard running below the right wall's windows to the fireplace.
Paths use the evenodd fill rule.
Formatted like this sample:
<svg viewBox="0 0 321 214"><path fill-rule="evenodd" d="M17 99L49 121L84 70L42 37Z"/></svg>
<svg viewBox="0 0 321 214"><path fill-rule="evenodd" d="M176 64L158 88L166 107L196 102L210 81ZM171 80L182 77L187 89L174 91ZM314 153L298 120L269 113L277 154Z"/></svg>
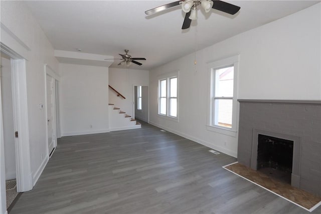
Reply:
<svg viewBox="0 0 321 214"><path fill-rule="evenodd" d="M201 139L199 139L199 138L197 138L197 137L193 137L193 136L191 136L191 135L188 135L188 134L179 132L179 131L177 131L177 130L174 130L174 129L171 129L171 128L168 128L168 127L159 125L159 124L154 123L154 122L151 122L151 121L149 121L149 123L150 123L151 125L153 125L153 126L157 126L158 128L162 128L162 129L167 130L167 131L169 131L169 132L172 132L172 133L174 133L174 134L177 134L177 135L180 135L180 136L182 136L182 137L185 137L185 138L187 138L187 139L189 139L189 140L193 140L193 141L195 141L195 142L197 142L197 143L199 143L199 144L202 144L202 145L204 145L204 146L207 146L207 147L209 147L209 148L212 148L212 149L215 149L215 150L220 151L220 152L222 152L222 153L228 154L228 155L230 155L230 156L232 156L232 157L237 157L237 152L231 151L231 150L226 149L226 148L223 148L223 147L221 147L221 146L213 145L213 143L210 143L210 142L201 140Z"/></svg>

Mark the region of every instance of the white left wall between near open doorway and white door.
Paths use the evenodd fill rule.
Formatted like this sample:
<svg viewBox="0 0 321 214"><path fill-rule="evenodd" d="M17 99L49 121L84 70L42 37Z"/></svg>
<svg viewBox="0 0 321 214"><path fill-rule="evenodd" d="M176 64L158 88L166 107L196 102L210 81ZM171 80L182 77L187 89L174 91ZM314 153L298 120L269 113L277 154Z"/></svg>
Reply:
<svg viewBox="0 0 321 214"><path fill-rule="evenodd" d="M49 64L57 71L58 62L48 38L22 1L1 2L1 24L2 42L27 59L28 131L31 176L35 183L46 164L48 153L46 114L39 109L39 104L45 104L44 64ZM6 34L4 29L7 29ZM4 35L6 37L3 37ZM2 197L1 200L3 199Z"/></svg>

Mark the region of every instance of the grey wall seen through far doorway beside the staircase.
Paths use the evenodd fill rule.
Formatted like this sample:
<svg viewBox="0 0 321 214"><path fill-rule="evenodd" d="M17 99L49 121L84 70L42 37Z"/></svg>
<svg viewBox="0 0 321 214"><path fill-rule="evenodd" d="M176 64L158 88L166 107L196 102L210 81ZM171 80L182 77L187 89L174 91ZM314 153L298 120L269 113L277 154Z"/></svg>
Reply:
<svg viewBox="0 0 321 214"><path fill-rule="evenodd" d="M137 109L137 86L135 86L135 118L148 122L148 86L141 87L141 110Z"/></svg>

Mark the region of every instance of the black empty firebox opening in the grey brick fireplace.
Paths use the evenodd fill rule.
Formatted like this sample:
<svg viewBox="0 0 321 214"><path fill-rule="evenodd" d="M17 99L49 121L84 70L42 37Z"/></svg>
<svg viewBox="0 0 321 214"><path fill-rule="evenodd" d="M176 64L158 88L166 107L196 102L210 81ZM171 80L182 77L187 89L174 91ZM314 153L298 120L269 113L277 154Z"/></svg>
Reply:
<svg viewBox="0 0 321 214"><path fill-rule="evenodd" d="M293 141L258 134L257 170L291 184Z"/></svg>

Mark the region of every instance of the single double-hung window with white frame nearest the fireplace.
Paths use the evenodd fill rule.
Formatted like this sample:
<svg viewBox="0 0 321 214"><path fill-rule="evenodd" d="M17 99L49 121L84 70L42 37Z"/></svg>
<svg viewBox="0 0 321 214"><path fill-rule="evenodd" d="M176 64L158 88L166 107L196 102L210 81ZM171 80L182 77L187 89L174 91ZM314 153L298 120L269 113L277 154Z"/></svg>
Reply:
<svg viewBox="0 0 321 214"><path fill-rule="evenodd" d="M236 136L238 56L210 63L209 68L208 130Z"/></svg>

